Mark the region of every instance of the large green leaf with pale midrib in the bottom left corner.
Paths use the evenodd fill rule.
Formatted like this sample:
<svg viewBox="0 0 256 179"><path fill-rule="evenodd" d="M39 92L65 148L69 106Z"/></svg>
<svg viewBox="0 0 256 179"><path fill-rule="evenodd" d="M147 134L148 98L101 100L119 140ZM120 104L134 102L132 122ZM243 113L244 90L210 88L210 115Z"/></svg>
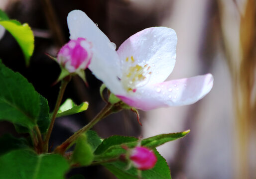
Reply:
<svg viewBox="0 0 256 179"><path fill-rule="evenodd" d="M56 154L14 150L0 156L0 179L64 179L68 162Z"/></svg>

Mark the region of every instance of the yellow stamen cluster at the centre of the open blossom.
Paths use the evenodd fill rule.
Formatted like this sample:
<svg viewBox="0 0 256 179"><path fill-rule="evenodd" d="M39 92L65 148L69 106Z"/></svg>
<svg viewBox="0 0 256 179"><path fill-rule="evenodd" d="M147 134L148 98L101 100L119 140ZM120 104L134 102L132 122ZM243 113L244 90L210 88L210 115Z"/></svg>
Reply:
<svg viewBox="0 0 256 179"><path fill-rule="evenodd" d="M149 71L150 67L147 64L140 66L134 62L133 56L126 58L126 64L123 66L123 76L121 79L123 87L127 91L133 92L135 92L137 88L146 85L152 73Z"/></svg>

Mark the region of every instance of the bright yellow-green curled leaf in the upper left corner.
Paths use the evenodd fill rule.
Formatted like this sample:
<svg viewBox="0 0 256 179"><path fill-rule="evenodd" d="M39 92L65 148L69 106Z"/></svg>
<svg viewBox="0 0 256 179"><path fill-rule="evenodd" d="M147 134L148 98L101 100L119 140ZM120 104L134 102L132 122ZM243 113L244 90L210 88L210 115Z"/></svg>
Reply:
<svg viewBox="0 0 256 179"><path fill-rule="evenodd" d="M34 51L34 35L27 23L21 24L17 20L7 20L4 15L0 19L2 25L18 42L24 57L25 63L29 65L29 59Z"/></svg>

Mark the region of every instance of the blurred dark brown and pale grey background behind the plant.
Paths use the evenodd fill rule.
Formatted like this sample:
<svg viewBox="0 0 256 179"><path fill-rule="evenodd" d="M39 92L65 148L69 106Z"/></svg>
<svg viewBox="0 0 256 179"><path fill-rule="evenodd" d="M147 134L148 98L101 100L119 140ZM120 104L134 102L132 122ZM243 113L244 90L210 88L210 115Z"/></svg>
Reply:
<svg viewBox="0 0 256 179"><path fill-rule="evenodd" d="M177 59L168 80L212 73L214 86L199 102L140 111L142 127L131 111L113 114L95 127L110 135L149 137L191 129L183 139L160 146L173 179L256 179L256 1L255 0L0 0L11 19L28 23L35 50L28 68L14 38L5 31L0 59L20 72L48 99L53 110L60 84L56 56L69 39L66 17L80 9L98 24L117 48L130 35L152 26L175 29ZM64 98L89 102L89 110L56 120L53 147L92 119L104 106L101 82L86 70L89 88L73 78ZM3 88L3 87L0 87ZM0 122L0 135L13 126ZM54 142L53 142L54 141ZM100 166L71 171L88 179L115 179Z"/></svg>

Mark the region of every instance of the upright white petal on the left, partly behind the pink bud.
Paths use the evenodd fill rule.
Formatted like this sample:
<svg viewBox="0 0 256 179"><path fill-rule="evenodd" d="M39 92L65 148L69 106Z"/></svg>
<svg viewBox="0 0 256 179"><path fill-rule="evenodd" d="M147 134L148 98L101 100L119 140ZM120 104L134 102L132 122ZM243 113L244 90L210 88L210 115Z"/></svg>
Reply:
<svg viewBox="0 0 256 179"><path fill-rule="evenodd" d="M118 54L109 38L81 10L69 12L67 17L70 39L83 37L92 42L93 57L89 69L113 92L124 93L118 77L121 66Z"/></svg>

